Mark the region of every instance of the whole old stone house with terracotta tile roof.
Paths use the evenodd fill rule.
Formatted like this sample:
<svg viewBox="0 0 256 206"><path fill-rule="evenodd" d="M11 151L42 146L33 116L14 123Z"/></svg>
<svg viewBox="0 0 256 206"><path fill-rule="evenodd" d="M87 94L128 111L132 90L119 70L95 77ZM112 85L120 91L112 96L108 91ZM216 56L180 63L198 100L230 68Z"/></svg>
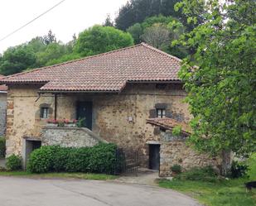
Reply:
<svg viewBox="0 0 256 206"><path fill-rule="evenodd" d="M26 160L41 144L91 146L104 140L137 149L141 165L158 170L162 164L162 175L169 175L167 167L182 159L185 143L162 141L159 127L147 122L190 120L180 66L175 56L142 43L1 79L8 86L7 156L22 154ZM85 118L86 128L47 125L48 119L64 118ZM171 159L170 152L181 157ZM205 155L188 160L189 153L181 160L184 169L219 164Z"/></svg>

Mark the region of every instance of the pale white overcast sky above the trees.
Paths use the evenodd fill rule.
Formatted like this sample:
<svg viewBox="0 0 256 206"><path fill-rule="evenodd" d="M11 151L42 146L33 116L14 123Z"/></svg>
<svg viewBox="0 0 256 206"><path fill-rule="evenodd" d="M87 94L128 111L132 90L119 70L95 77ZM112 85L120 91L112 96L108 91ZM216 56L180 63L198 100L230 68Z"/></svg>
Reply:
<svg viewBox="0 0 256 206"><path fill-rule="evenodd" d="M9 46L17 46L33 37L44 36L51 31L58 41L68 42L74 33L78 35L94 24L102 24L107 15L112 20L118 9L128 0L65 0L51 12L0 41L0 53ZM33 18L46 12L60 0L0 0L0 39L15 31Z"/></svg>

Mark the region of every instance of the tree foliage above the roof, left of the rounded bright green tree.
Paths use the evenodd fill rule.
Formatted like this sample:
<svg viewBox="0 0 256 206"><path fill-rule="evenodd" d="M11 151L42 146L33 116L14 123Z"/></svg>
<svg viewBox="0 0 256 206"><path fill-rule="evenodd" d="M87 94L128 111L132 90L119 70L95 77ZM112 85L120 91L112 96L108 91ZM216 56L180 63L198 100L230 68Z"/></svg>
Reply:
<svg viewBox="0 0 256 206"><path fill-rule="evenodd" d="M0 73L15 74L25 69L52 65L80 57L74 54L75 36L67 44L56 41L51 31L46 36L36 36L20 46L8 48L0 58Z"/></svg>

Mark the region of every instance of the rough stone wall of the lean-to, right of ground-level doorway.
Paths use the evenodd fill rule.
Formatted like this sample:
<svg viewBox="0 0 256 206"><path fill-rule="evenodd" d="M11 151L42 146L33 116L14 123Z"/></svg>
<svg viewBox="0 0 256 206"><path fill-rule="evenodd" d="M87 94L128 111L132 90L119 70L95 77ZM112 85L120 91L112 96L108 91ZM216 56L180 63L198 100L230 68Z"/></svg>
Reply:
<svg viewBox="0 0 256 206"><path fill-rule="evenodd" d="M171 176L171 166L181 165L182 170L211 165L220 170L219 157L210 157L186 146L186 137L174 137L170 131L161 132L160 176Z"/></svg>

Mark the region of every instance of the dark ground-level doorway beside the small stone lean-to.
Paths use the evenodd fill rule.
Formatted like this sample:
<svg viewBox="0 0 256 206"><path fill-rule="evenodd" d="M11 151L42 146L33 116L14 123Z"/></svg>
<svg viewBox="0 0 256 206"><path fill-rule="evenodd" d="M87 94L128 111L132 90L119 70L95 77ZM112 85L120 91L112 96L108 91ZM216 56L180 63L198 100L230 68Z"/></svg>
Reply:
<svg viewBox="0 0 256 206"><path fill-rule="evenodd" d="M159 170L160 166L160 145L149 146L149 169Z"/></svg>

